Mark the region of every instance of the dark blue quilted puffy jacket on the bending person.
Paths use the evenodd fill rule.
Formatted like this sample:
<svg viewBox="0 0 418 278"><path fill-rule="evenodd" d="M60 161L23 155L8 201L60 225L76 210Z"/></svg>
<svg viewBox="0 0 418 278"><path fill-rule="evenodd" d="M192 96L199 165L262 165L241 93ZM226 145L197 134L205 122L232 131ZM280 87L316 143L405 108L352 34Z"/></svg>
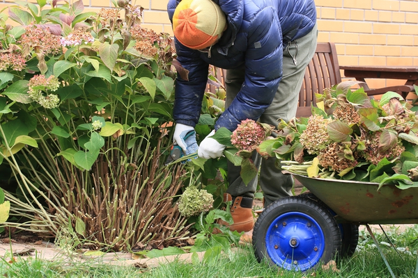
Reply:
<svg viewBox="0 0 418 278"><path fill-rule="evenodd" d="M173 13L181 0L169 0ZM178 76L173 117L195 126L208 80L208 65L231 69L245 65L245 81L215 129L236 129L242 120L258 120L272 103L282 76L283 49L307 35L316 23L314 0L212 0L227 16L228 28L206 51L189 49L175 38L177 60L189 70L188 81Z"/></svg>

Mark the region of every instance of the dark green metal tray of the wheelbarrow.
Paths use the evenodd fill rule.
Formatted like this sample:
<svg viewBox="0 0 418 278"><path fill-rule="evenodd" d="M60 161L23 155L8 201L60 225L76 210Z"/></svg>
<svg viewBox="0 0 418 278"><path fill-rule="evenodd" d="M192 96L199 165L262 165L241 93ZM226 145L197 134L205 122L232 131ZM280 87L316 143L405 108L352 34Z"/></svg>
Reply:
<svg viewBox="0 0 418 278"><path fill-rule="evenodd" d="M401 190L387 184L378 190L379 183L292 175L341 218L338 222L418 223L418 188Z"/></svg>

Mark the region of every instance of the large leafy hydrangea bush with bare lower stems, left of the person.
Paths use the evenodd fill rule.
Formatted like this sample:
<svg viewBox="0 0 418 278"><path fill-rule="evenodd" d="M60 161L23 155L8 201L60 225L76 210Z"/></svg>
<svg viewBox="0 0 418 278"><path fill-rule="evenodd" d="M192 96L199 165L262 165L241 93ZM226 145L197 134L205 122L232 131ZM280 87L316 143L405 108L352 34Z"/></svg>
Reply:
<svg viewBox="0 0 418 278"><path fill-rule="evenodd" d="M36 2L0 14L0 167L17 187L6 225L49 237L68 227L112 250L185 240L172 196L186 166L164 165L169 35L142 28L143 9L126 0L98 13Z"/></svg>

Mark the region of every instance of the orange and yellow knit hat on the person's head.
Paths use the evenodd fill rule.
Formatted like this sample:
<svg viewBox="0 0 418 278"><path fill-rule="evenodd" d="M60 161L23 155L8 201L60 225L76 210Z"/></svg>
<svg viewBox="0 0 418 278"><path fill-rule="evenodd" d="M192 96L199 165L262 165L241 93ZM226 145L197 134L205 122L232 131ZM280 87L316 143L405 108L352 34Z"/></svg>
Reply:
<svg viewBox="0 0 418 278"><path fill-rule="evenodd" d="M225 26L224 12L211 0L183 0L174 11L174 35L191 49L204 49L215 44Z"/></svg>

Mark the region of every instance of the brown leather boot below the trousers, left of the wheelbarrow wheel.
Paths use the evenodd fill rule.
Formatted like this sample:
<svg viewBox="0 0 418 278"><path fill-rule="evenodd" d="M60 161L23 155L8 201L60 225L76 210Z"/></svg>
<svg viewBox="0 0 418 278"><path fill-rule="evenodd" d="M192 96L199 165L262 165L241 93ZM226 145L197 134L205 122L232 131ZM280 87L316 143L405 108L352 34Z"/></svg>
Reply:
<svg viewBox="0 0 418 278"><path fill-rule="evenodd" d="M252 213L252 198L249 197L233 197L229 193L224 193L224 202L232 201L231 215L233 224L228 224L219 220L219 224L229 227L231 231L251 231L254 227L254 216Z"/></svg>

